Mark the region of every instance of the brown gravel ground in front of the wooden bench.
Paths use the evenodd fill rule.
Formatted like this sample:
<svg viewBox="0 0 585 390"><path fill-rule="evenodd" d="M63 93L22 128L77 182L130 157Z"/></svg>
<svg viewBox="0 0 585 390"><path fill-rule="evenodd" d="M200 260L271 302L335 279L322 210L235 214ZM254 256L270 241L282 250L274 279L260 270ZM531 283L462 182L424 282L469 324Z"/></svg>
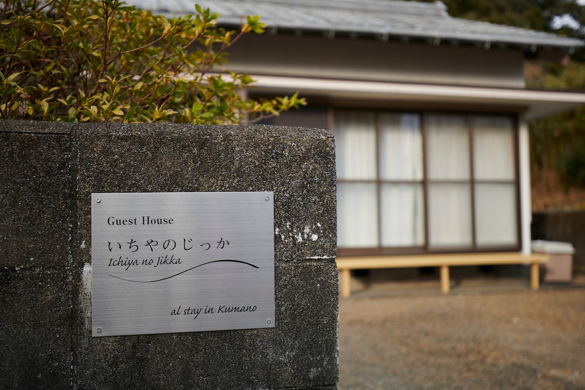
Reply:
<svg viewBox="0 0 585 390"><path fill-rule="evenodd" d="M339 390L585 389L585 288L339 299Z"/></svg>

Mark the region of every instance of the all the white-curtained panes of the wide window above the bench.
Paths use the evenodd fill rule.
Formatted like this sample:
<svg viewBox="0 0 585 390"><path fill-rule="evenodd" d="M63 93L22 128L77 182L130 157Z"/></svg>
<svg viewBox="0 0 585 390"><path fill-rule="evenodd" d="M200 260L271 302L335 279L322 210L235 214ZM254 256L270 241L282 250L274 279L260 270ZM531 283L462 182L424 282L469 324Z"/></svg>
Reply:
<svg viewBox="0 0 585 390"><path fill-rule="evenodd" d="M471 248L472 213L478 246L516 244L512 119L472 116L467 122L459 115L425 116L425 205L419 118L417 114L381 113L377 145L373 112L335 113L338 246L424 246L425 208L429 223L426 240L431 249ZM467 125L473 131L474 184ZM473 210L472 185L476 196Z"/></svg>

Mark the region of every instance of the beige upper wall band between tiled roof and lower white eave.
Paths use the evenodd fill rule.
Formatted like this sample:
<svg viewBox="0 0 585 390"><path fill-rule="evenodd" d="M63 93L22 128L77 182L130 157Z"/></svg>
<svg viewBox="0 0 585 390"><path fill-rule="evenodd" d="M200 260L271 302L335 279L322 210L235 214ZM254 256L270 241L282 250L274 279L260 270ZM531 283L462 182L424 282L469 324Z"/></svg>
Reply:
<svg viewBox="0 0 585 390"><path fill-rule="evenodd" d="M308 36L245 36L229 68L250 74L524 88L521 51Z"/></svg>

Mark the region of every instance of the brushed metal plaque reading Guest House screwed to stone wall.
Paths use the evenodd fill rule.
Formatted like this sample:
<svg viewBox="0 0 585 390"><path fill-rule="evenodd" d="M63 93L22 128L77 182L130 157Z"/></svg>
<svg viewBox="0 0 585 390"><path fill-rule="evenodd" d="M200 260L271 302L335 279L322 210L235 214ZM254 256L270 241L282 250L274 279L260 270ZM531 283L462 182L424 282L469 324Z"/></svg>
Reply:
<svg viewBox="0 0 585 390"><path fill-rule="evenodd" d="M273 192L91 195L92 336L274 327Z"/></svg>

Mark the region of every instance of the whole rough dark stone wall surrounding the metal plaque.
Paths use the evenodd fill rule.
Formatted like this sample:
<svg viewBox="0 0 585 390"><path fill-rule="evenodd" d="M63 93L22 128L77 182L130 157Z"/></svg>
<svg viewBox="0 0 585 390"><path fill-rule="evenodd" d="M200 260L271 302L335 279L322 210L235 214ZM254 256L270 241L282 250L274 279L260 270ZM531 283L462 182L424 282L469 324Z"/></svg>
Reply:
<svg viewBox="0 0 585 390"><path fill-rule="evenodd" d="M0 121L0 148L0 389L336 388L331 133ZM274 191L276 328L92 338L91 193L177 191Z"/></svg>

